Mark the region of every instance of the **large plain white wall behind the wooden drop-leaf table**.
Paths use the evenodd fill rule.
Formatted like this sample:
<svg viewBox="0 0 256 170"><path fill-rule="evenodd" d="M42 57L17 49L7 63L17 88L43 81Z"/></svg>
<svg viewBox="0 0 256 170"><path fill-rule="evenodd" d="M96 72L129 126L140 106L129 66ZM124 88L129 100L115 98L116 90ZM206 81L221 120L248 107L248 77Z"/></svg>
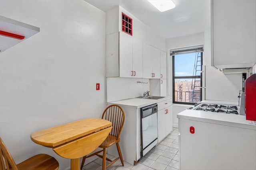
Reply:
<svg viewBox="0 0 256 170"><path fill-rule="evenodd" d="M106 107L105 13L84 0L1 0L0 15L40 27L0 54L0 136L16 163L44 152L64 170L70 160L33 143L30 134L101 116Z"/></svg>

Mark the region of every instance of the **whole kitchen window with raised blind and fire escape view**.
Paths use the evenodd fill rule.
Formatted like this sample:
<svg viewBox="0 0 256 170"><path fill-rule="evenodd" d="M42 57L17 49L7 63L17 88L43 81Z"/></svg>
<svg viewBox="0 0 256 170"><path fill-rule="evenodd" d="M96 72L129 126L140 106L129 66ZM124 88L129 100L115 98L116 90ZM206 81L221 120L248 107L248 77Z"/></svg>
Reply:
<svg viewBox="0 0 256 170"><path fill-rule="evenodd" d="M202 101L203 46L174 49L172 56L172 96L176 104Z"/></svg>

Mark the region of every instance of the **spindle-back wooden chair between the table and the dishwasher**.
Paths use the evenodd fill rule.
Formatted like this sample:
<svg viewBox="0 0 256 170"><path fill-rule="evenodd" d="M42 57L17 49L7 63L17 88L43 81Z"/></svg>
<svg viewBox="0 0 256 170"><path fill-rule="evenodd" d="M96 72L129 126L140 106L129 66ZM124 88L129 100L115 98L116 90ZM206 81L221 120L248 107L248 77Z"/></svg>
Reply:
<svg viewBox="0 0 256 170"><path fill-rule="evenodd" d="M94 156L94 155L97 155L100 158L102 158L102 170L106 170L106 168L108 166L114 164L114 162L116 162L119 158L122 162L122 166L124 166L124 160L122 157L120 146L118 144L120 141L120 134L121 134L121 131L122 131L122 128L124 125L124 110L122 109L122 107L120 107L116 104L110 105L104 110L101 118L111 121L113 128L110 131L108 137L105 139L105 141L99 146L100 148L102 148L102 150L83 157L82 164L81 164L81 170L84 166L85 159L89 158L91 156ZM106 158L106 148L114 145L115 143L116 143L119 157L114 160L110 160L109 158ZM99 153L102 151L103 151L103 154L100 155ZM106 160L110 161L110 163L108 165L106 165Z"/></svg>

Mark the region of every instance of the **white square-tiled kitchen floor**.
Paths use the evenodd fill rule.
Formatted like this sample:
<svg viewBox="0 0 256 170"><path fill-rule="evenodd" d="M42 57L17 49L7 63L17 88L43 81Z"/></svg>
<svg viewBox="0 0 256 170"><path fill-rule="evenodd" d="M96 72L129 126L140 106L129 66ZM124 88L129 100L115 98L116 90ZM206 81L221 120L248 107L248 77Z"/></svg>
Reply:
<svg viewBox="0 0 256 170"><path fill-rule="evenodd" d="M122 149L122 148L121 148ZM148 152L136 165L124 161L122 166L120 159L108 167L108 170L177 170L179 169L178 129L173 128L163 141ZM107 155L113 160L115 157ZM107 164L109 162L107 161ZM102 159L97 158L85 165L84 170L102 170Z"/></svg>

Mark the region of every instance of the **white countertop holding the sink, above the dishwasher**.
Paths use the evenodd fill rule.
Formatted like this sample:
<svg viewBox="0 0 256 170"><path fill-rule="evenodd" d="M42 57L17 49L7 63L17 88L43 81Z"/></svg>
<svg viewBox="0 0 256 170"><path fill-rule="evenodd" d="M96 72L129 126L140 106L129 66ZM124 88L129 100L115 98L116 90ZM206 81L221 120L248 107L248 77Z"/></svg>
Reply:
<svg viewBox="0 0 256 170"><path fill-rule="evenodd" d="M158 100L154 99L141 99L141 98L131 98L131 99L125 99L125 100L118 100L114 102L108 102L108 104L118 104L123 105L126 107L133 107L133 108L141 108L145 107L151 104L156 104L158 102L162 102L164 100L171 99L171 97L165 97Z"/></svg>

